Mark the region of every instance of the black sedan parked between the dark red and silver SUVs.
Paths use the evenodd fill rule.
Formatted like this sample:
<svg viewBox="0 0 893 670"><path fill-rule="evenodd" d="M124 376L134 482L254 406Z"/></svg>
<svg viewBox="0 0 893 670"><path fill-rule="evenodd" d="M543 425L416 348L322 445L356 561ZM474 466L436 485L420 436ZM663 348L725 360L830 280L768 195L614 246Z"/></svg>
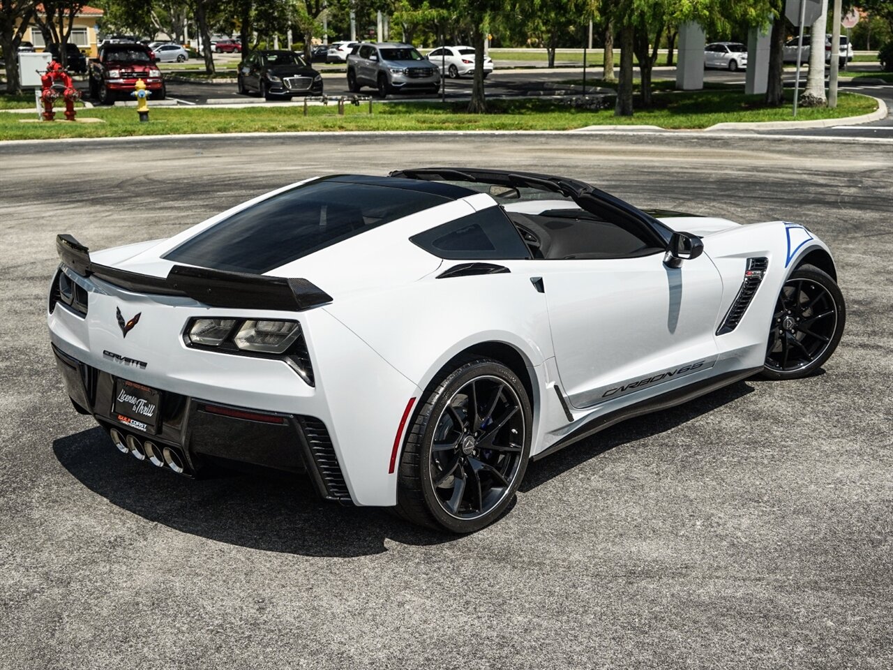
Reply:
<svg viewBox="0 0 893 670"><path fill-rule="evenodd" d="M267 100L321 96L322 77L293 51L255 51L239 66L238 92Z"/></svg>

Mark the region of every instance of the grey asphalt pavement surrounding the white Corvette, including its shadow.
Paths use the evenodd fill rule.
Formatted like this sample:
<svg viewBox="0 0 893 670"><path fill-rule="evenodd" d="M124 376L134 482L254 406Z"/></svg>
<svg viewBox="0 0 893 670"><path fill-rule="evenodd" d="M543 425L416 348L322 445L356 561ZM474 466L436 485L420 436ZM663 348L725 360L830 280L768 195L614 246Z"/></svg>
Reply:
<svg viewBox="0 0 893 670"><path fill-rule="evenodd" d="M0 159L15 166L0 180L4 670L893 666L889 143L215 136ZM511 514L463 538L323 503L304 480L179 478L74 413L44 317L56 233L154 239L333 165L430 162L804 222L839 264L839 351L813 378L740 382L532 464Z"/></svg>

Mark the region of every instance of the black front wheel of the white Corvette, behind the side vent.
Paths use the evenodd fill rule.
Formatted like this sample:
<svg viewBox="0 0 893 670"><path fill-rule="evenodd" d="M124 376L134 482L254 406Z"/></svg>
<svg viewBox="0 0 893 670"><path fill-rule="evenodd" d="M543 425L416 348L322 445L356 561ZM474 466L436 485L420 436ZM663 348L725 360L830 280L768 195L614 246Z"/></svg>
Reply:
<svg viewBox="0 0 893 670"><path fill-rule="evenodd" d="M806 377L834 353L847 322L837 283L813 265L801 265L781 287L766 348L763 376Z"/></svg>

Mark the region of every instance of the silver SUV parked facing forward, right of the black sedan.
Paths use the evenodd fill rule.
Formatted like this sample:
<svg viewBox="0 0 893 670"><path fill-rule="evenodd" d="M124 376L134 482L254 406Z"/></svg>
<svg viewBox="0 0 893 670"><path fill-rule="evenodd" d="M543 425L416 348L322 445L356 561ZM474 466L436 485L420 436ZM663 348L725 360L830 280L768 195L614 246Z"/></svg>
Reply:
<svg viewBox="0 0 893 670"><path fill-rule="evenodd" d="M363 86L376 88L380 97L410 91L437 93L440 71L412 45L363 44L356 54L347 56L347 88L356 93Z"/></svg>

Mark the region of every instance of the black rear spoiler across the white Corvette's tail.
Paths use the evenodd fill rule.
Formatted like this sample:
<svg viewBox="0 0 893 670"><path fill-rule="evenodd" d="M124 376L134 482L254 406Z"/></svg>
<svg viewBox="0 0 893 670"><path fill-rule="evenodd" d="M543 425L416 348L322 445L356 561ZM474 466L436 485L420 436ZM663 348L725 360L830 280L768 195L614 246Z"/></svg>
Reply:
<svg viewBox="0 0 893 670"><path fill-rule="evenodd" d="M89 249L71 235L56 236L56 251L63 264L84 277L96 275L122 289L141 293L188 296L212 307L303 312L332 302L328 293L305 279L224 272L188 265L174 265L164 278L120 270L93 263Z"/></svg>

